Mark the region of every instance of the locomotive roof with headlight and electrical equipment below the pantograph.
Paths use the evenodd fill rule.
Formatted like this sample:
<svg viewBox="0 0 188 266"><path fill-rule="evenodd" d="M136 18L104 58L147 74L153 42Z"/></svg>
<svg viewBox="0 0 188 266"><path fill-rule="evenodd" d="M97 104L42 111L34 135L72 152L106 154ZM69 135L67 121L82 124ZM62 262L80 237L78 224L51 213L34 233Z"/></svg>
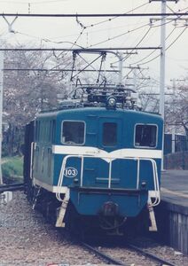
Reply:
<svg viewBox="0 0 188 266"><path fill-rule="evenodd" d="M59 109L43 111L37 117L55 118L65 113L71 113L73 118L78 113L98 113L98 115L110 113L115 117L116 114L120 113L127 113L131 116L137 113L137 115L145 115L145 117L161 118L158 113L141 111L141 108L137 105L137 98L138 95L135 90L127 89L122 85L108 87L81 86L75 88L71 97L62 101Z"/></svg>

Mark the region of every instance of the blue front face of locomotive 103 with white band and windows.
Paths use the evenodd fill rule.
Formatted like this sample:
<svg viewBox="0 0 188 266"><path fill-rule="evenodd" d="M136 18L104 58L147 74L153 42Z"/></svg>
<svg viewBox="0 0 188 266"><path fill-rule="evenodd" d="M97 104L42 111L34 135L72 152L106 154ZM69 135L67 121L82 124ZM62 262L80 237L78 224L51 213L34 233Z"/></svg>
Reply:
<svg viewBox="0 0 188 266"><path fill-rule="evenodd" d="M92 217L109 231L143 214L149 226L149 214L160 202L160 116L104 108L85 108L76 115L79 121L67 113L61 122L63 145L54 147L62 158L57 198L64 202L60 188L67 187L67 204L71 201L77 215L85 221ZM150 229L156 230L150 220Z"/></svg>

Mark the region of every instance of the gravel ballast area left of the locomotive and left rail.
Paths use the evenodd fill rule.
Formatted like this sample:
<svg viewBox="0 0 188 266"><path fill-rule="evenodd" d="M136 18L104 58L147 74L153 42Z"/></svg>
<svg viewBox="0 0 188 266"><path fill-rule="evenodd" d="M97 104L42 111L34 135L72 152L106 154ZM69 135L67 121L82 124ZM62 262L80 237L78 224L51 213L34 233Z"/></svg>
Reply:
<svg viewBox="0 0 188 266"><path fill-rule="evenodd" d="M46 223L33 211L23 192L0 205L0 265L102 264L94 254Z"/></svg>

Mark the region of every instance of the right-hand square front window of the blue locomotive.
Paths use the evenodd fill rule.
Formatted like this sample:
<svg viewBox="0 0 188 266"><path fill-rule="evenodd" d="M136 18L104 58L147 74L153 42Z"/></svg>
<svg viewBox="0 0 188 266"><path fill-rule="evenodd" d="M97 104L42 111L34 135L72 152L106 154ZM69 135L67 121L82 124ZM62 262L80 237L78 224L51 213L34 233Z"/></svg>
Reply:
<svg viewBox="0 0 188 266"><path fill-rule="evenodd" d="M137 125L135 132L135 146L137 147L156 147L157 145L157 126Z"/></svg>

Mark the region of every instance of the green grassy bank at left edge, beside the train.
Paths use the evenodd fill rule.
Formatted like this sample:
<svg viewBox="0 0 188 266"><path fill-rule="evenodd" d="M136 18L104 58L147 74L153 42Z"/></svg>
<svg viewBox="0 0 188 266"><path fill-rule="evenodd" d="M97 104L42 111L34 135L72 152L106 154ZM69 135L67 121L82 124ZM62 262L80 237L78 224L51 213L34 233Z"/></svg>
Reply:
<svg viewBox="0 0 188 266"><path fill-rule="evenodd" d="M4 183L22 182L23 158L20 156L4 157L2 163Z"/></svg>

